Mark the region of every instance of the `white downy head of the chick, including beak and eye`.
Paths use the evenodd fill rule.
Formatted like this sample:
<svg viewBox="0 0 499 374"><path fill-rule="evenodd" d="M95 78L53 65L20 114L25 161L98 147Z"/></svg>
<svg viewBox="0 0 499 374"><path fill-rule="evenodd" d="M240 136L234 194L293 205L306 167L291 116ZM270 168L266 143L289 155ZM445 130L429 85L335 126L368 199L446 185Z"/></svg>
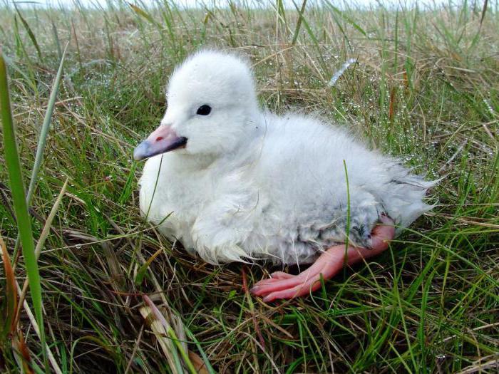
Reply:
<svg viewBox="0 0 499 374"><path fill-rule="evenodd" d="M252 72L240 58L200 51L175 69L160 126L133 152L135 160L175 151L217 157L235 150L258 113Z"/></svg>

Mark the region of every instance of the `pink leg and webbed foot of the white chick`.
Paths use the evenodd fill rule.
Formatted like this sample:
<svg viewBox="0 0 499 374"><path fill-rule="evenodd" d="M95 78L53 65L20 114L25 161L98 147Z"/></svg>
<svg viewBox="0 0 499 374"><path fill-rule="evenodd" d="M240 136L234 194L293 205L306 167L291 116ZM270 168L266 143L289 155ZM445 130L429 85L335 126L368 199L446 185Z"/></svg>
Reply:
<svg viewBox="0 0 499 374"><path fill-rule="evenodd" d="M393 239L395 229L393 221L388 217L381 217L381 225L374 227L372 232L372 249L349 246L346 251L347 264L353 265L362 259L376 256L388 248L389 241ZM255 296L264 296L263 301L274 301L277 298L295 298L308 295L317 290L322 278L331 279L344 266L345 246L340 244L331 246L317 259L309 269L302 271L297 276L276 271L272 278L257 282L251 289Z"/></svg>

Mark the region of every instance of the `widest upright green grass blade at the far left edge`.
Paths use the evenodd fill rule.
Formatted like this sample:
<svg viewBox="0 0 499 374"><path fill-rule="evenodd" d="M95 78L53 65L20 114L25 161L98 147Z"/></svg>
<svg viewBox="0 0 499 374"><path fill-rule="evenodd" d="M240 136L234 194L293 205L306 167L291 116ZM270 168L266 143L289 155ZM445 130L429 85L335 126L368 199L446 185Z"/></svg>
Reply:
<svg viewBox="0 0 499 374"><path fill-rule="evenodd" d="M47 355L45 347L45 333L43 330L43 313L41 309L41 280L38 272L38 264L35 256L35 246L33 232L31 231L31 219L28 214L26 195L24 194L24 184L21 173L21 162L16 144L16 132L12 121L11 102L9 96L9 83L7 80L7 69L3 54L0 51L0 115L2 130L4 133L4 155L9 172L9 184L14 200L14 210L16 212L17 226L19 227L19 237L23 245L24 262L26 273L29 279L31 299L35 311L36 321L40 326L41 347L43 350L43 362L47 366Z"/></svg>

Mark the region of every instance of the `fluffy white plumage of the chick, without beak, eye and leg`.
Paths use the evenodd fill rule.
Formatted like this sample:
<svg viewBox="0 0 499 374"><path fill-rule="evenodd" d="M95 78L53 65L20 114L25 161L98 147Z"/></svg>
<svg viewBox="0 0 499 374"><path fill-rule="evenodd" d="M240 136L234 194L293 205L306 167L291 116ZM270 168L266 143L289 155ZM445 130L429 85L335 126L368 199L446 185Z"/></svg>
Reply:
<svg viewBox="0 0 499 374"><path fill-rule="evenodd" d="M435 182L398 160L317 118L260 110L241 58L196 53L173 73L167 98L161 125L187 144L145 163L140 209L155 224L171 214L160 231L205 261L304 264L344 242L344 160L355 244L369 247L381 213L407 227L431 209L423 197ZM209 115L196 114L201 105Z"/></svg>

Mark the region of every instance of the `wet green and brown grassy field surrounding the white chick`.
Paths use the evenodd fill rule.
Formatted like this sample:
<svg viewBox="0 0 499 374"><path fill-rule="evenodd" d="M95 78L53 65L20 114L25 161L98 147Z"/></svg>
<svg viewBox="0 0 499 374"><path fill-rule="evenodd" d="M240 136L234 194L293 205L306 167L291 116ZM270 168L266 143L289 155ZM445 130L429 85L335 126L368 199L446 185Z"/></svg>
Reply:
<svg viewBox="0 0 499 374"><path fill-rule="evenodd" d="M6 326L15 308L4 261L0 371L29 360L38 373L497 373L499 13L473 4L2 8L26 186L68 47L30 207L34 238L46 237L46 346L30 293L30 311ZM159 123L173 67L202 46L248 56L267 108L317 113L442 177L436 208L374 261L283 303L247 292L269 265L214 267L172 246L140 219L132 152ZM22 286L1 148L0 234Z"/></svg>

